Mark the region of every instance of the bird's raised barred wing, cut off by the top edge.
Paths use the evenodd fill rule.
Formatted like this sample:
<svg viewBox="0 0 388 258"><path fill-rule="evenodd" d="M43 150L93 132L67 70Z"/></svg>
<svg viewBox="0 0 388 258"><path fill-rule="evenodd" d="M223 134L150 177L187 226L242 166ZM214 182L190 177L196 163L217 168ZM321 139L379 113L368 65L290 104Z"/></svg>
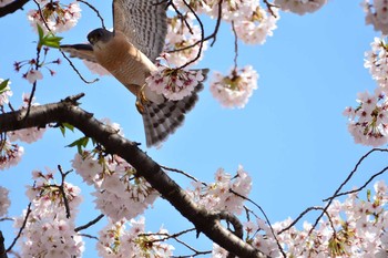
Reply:
<svg viewBox="0 0 388 258"><path fill-rule="evenodd" d="M152 62L161 54L167 33L166 0L113 0L114 30Z"/></svg>

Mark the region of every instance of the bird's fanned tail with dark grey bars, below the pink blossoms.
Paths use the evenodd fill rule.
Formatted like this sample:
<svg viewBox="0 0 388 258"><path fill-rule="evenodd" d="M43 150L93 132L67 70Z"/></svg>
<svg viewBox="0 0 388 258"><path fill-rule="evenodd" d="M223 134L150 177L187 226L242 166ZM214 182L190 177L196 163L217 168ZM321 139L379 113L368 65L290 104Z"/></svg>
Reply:
<svg viewBox="0 0 388 258"><path fill-rule="evenodd" d="M198 100L198 92L204 89L208 70L203 70L204 80L195 86L194 92L180 101L166 101L161 104L147 103L144 105L143 123L146 146L157 146L164 142L170 134L180 127Z"/></svg>

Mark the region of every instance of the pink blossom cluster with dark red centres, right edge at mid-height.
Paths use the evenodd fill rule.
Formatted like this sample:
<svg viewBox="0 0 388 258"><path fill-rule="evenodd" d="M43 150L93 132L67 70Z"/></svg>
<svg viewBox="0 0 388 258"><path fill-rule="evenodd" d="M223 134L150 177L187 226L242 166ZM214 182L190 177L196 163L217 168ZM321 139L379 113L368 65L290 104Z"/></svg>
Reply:
<svg viewBox="0 0 388 258"><path fill-rule="evenodd" d="M344 115L349 117L348 131L356 143L380 146L388 142L388 102L386 95L376 90L375 94L359 93L354 109L345 109Z"/></svg>

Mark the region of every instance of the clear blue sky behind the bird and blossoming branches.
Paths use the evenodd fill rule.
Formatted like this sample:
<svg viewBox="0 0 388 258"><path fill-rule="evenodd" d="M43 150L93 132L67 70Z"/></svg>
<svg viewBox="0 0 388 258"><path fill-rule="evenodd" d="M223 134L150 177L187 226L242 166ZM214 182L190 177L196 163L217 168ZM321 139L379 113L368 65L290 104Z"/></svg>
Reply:
<svg viewBox="0 0 388 258"><path fill-rule="evenodd" d="M238 64L252 64L259 73L258 90L246 107L221 107L206 83L184 126L162 148L144 146L144 149L161 165L183 169L205 182L213 179L218 167L235 173L242 164L254 182L249 197L263 207L270 221L295 218L306 207L321 205L321 199L334 193L359 157L370 149L354 144L347 132L347 118L341 115L345 106L356 105L357 92L372 91L376 86L364 68L364 52L370 49L378 33L365 25L359 3L329 1L318 12L303 17L282 12L278 29L264 45L239 44ZM33 7L30 2L25 10ZM88 32L99 27L95 16L81 7L79 25L61 34L63 43L84 42ZM111 25L110 2L98 2L96 7ZM205 25L213 23L207 21ZM12 103L18 106L21 93L29 92L30 84L13 71L12 63L34 56L37 35L23 11L0 19L0 78L12 81ZM223 23L214 48L205 52L197 66L226 73L233 65L232 35L228 24ZM49 56L60 55L52 50ZM75 61L75 64L86 79L95 78L82 62ZM83 109L98 118L110 117L121 124L126 137L144 145L142 120L134 109L134 97L118 81L104 76L86 85L65 62L57 72L53 78L45 73L47 80L39 83L39 103L57 102L84 92ZM18 167L0 173L0 185L11 189L10 216L21 214L28 204L23 193L24 185L32 184L32 169L54 168L58 164L64 169L71 167L69 161L75 149L64 146L79 136L69 134L63 138L58 130L51 130L42 141L24 145L25 154ZM384 158L375 155L368 159L347 189L361 185L382 168ZM188 186L185 178L173 177L184 188ZM387 176L380 179L387 180ZM81 179L74 174L70 182L79 184ZM99 215L91 210L94 206L88 194L90 189L82 185L84 204L78 218L80 225ZM157 230L161 225L172 233L191 227L162 199L146 213L146 221L150 230ZM0 223L7 244L11 238L10 225ZM93 234L93 230L85 233ZM191 241L200 249L211 248L204 238L197 245ZM88 250L93 249L93 242L88 241ZM84 257L95 257L93 252L86 254Z"/></svg>

